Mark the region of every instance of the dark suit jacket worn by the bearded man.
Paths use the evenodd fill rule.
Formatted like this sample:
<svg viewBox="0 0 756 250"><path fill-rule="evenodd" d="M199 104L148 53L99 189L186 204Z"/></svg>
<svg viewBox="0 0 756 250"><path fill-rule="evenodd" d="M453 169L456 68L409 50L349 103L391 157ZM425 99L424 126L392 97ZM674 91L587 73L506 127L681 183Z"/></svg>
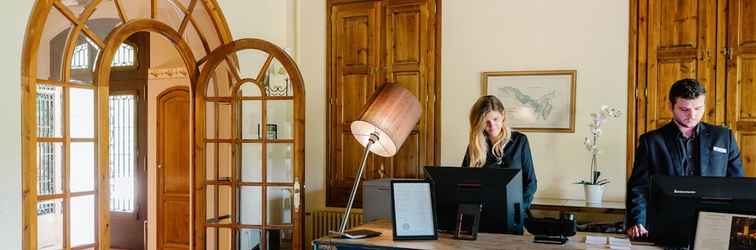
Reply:
<svg viewBox="0 0 756 250"><path fill-rule="evenodd" d="M743 163L735 136L728 128L700 123L698 134L701 176L743 176ZM652 175L683 174L678 151L679 128L674 122L641 135L635 151L633 173L627 181L627 222L629 226L646 226L646 200Z"/></svg>

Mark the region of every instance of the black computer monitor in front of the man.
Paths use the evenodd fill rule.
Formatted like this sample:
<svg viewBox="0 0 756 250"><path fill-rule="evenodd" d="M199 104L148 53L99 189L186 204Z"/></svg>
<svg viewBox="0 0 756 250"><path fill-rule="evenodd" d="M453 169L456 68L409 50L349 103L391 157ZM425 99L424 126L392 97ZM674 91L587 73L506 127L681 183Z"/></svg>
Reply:
<svg viewBox="0 0 756 250"><path fill-rule="evenodd" d="M756 211L756 178L651 177L646 224L662 246L687 246L700 210Z"/></svg>

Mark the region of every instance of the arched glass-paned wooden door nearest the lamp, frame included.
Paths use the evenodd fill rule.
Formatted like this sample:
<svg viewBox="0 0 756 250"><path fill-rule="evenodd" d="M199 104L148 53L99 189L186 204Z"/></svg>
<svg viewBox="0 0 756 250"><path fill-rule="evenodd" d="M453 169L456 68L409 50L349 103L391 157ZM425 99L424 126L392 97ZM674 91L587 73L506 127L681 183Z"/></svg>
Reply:
<svg viewBox="0 0 756 250"><path fill-rule="evenodd" d="M294 60L264 40L225 44L208 56L194 101L195 173L206 173L194 180L195 248L305 247L305 100Z"/></svg>

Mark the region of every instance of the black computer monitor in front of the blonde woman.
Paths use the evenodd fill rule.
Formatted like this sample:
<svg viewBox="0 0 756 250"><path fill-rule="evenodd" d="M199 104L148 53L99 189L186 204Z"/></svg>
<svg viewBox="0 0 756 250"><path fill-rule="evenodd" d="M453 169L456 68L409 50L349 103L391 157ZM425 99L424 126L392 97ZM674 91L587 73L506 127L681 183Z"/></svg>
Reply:
<svg viewBox="0 0 756 250"><path fill-rule="evenodd" d="M482 204L478 231L522 234L522 174L519 169L426 166L436 193L438 229L452 232L459 204Z"/></svg>

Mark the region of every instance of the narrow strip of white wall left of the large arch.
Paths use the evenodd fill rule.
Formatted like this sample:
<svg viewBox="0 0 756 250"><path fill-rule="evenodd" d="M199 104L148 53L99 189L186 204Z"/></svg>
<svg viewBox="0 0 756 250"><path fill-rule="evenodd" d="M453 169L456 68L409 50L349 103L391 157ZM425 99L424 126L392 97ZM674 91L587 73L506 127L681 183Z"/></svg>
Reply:
<svg viewBox="0 0 756 250"><path fill-rule="evenodd" d="M11 1L0 8L0 242L21 249L21 48L34 1Z"/></svg>

